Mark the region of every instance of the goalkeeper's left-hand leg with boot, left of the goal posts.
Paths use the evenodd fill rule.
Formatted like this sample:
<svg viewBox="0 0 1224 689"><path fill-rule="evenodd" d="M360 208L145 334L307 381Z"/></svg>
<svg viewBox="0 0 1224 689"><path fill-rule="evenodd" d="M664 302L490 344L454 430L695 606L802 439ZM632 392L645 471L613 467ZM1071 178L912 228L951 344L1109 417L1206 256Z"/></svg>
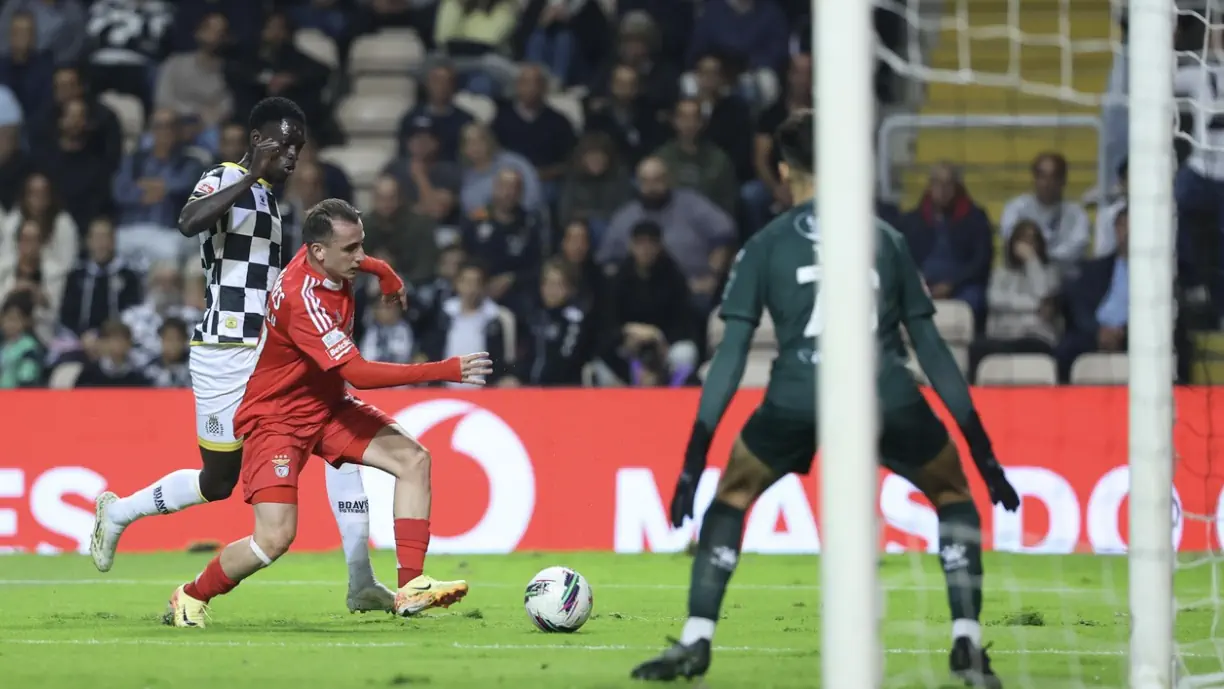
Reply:
<svg viewBox="0 0 1224 689"><path fill-rule="evenodd" d="M739 561L744 515L776 480L774 469L753 454L743 438L737 438L727 469L718 480L714 502L703 518L696 554L693 558L689 617L684 630L671 649L638 666L633 671L634 678L671 680L677 677L699 677L709 669L715 623Z"/></svg>

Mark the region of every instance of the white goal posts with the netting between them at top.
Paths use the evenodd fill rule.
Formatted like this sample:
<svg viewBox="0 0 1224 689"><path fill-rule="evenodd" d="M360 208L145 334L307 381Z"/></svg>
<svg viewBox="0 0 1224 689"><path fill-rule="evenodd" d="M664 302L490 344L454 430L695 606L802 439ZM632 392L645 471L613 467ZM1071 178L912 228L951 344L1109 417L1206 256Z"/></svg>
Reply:
<svg viewBox="0 0 1224 689"><path fill-rule="evenodd" d="M956 5L957 21L971 12L973 0L942 0ZM1075 0L1044 0L1064 13ZM907 22L919 16L920 0L903 5ZM1002 5L996 1L993 5ZM874 256L873 146L875 97L873 73L874 5L900 6L886 0L820 0L813 2L813 45L816 59L818 204L821 233L825 317L834 324L821 338L820 501L823 519L821 657L824 687L878 688L883 682L884 646L880 634L876 501L876 400L874 399L873 313L867 279ZM1007 0L1007 26L999 35L1016 45L1032 42L1073 53L1070 24L1058 35L1029 37L1020 31L1024 0ZM1129 666L1131 689L1224 687L1224 674L1179 678L1175 672L1174 587L1176 553L1174 526L1174 202L1176 169L1171 141L1176 106L1173 93L1175 55L1174 0L1114 0L1129 9L1129 168L1130 175L1130 359L1129 453L1130 590ZM944 20L947 21L947 20ZM969 28L966 23L968 45ZM939 29L936 29L939 31ZM984 29L989 31L989 29ZM1100 43L1100 42L1098 42ZM1114 49L1126 50L1116 40ZM1106 44L1104 50L1110 49ZM1093 48L1102 50L1100 47ZM919 81L988 83L1018 93L1077 104L1100 104L1102 93L1076 91L1067 69L1058 83L1034 83L1010 67L976 72L934 70L916 58L889 53L881 56L900 73ZM1070 65L1070 58L1066 61ZM1104 91L1104 84L1102 84ZM1051 106L1051 110L1054 108ZM1198 142L1202 144L1202 142ZM1102 180L1104 184L1104 180ZM1002 458L1005 464L1007 458ZM988 585L989 586L989 585ZM875 611L878 614L863 614ZM1222 668L1224 669L1224 668ZM1207 679L1215 684L1200 684Z"/></svg>

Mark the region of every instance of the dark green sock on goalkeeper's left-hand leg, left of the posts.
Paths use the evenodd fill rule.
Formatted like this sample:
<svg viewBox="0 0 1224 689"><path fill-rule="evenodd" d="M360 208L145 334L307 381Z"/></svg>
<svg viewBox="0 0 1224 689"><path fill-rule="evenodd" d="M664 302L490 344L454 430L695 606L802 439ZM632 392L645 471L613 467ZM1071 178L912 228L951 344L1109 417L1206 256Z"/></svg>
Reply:
<svg viewBox="0 0 1224 689"><path fill-rule="evenodd" d="M717 620L722 596L739 561L739 541L744 535L744 510L714 501L705 512L701 536L693 557L693 581L689 585L689 617Z"/></svg>

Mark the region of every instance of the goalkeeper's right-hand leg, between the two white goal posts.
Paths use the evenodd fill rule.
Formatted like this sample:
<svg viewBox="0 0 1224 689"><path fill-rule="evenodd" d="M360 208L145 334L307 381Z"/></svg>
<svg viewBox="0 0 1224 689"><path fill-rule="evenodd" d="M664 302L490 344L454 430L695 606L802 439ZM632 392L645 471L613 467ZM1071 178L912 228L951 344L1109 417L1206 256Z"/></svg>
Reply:
<svg viewBox="0 0 1224 689"><path fill-rule="evenodd" d="M982 646L982 520L956 445L947 442L935 459L905 475L939 515L939 557L952 617L952 673L973 687L1001 687Z"/></svg>

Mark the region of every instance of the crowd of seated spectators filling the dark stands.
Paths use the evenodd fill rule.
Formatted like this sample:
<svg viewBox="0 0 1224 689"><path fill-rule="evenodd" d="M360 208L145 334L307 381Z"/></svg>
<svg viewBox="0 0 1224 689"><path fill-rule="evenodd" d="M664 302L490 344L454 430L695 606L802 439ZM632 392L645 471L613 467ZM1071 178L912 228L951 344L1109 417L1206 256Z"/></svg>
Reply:
<svg viewBox="0 0 1224 689"><path fill-rule="evenodd" d="M7 0L0 388L187 384L204 275L176 218L206 169L241 159L244 116L267 95L297 102L311 128L275 190L286 237L318 201L355 201L367 250L411 284L406 313L360 285L366 357L485 350L501 385L695 383L737 247L791 203L770 135L812 106L808 7ZM415 104L382 173L355 185L327 155L349 133L337 113L354 89L353 47L404 27L424 47L405 65ZM876 28L905 40L892 11L876 12ZM334 66L302 49L302 31L334 44ZM881 65L883 102L890 76ZM137 136L108 105L115 93L141 104ZM577 111L554 106L562 93ZM492 106L469 111L474 102ZM952 165L930 171L916 208L878 203L931 295L972 311L971 376L991 352L1039 351L1066 381L1077 356L1125 351L1122 169L1094 225L1064 197L1058 152L1032 162L1033 191L998 219Z"/></svg>

